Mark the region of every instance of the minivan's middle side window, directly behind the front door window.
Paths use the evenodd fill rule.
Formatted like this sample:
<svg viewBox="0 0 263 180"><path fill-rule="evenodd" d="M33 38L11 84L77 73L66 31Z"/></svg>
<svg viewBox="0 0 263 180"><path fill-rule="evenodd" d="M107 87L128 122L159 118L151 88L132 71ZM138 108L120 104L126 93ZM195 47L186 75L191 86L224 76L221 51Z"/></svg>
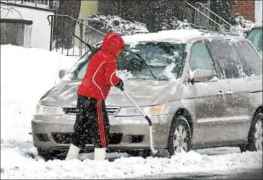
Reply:
<svg viewBox="0 0 263 180"><path fill-rule="evenodd" d="M211 56L222 71L223 78L242 78L243 70L236 48L229 39L214 39L207 42Z"/></svg>

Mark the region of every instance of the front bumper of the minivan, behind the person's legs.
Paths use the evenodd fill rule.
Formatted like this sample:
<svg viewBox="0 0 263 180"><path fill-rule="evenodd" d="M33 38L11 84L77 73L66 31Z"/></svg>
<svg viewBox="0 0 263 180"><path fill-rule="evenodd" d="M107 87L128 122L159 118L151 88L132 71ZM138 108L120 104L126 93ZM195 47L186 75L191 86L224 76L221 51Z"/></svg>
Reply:
<svg viewBox="0 0 263 180"><path fill-rule="evenodd" d="M172 114L150 117L155 148L166 148ZM143 116L109 117L110 143L108 150L150 149L149 126ZM32 119L34 146L38 148L68 148L73 133L74 117L35 115ZM93 148L92 142L87 148Z"/></svg>

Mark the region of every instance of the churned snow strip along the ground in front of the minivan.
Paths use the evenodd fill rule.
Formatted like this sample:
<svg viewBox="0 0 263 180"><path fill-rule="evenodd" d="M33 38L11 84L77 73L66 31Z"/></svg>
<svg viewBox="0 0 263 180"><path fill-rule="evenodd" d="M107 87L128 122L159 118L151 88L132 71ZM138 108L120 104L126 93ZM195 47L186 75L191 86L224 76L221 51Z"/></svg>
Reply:
<svg viewBox="0 0 263 180"><path fill-rule="evenodd" d="M92 157L91 154L82 154L79 158L83 161L45 162L38 157L28 157L27 152L19 148L1 150L1 156L2 179L149 179L194 172L235 174L262 168L262 151L215 156L191 151L176 154L171 159L121 157L114 162L86 159Z"/></svg>

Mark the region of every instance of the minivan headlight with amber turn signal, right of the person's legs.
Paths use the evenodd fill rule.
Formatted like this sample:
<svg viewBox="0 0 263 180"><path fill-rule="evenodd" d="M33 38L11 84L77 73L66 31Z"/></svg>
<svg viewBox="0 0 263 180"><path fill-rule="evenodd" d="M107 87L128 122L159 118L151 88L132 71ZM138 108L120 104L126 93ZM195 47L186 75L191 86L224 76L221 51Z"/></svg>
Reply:
<svg viewBox="0 0 263 180"><path fill-rule="evenodd" d="M165 106L144 106L141 107L147 115L161 115L165 113ZM143 116L136 107L122 107L116 116Z"/></svg>

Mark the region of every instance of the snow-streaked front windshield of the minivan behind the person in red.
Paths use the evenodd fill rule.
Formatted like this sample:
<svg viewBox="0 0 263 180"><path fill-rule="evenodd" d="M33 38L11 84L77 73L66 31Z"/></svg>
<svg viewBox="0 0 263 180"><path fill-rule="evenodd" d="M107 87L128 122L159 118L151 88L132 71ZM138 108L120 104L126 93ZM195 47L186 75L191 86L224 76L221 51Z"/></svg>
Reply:
<svg viewBox="0 0 263 180"><path fill-rule="evenodd" d="M98 47L95 49L99 49ZM117 56L117 76L124 79L170 80L179 78L183 69L185 44L172 43L137 43L126 45L125 49L139 54L123 51ZM64 80L81 80L87 69L91 52L87 52L69 71ZM152 76L156 76L156 79Z"/></svg>

